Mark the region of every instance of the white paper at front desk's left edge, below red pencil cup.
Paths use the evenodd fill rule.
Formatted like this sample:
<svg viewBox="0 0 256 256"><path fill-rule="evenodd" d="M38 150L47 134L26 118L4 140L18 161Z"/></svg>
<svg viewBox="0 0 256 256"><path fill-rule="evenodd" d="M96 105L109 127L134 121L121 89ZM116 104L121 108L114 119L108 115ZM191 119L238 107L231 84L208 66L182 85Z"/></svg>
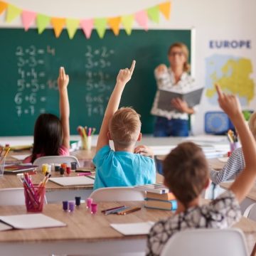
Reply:
<svg viewBox="0 0 256 256"><path fill-rule="evenodd" d="M0 216L0 220L17 229L64 227L66 224L42 213ZM0 229L1 230L1 229Z"/></svg>

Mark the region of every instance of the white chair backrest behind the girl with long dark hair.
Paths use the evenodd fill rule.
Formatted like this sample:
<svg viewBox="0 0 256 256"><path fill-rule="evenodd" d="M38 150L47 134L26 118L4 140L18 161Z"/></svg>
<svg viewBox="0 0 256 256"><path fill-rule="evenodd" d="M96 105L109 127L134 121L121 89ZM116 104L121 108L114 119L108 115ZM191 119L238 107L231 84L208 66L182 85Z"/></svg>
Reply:
<svg viewBox="0 0 256 256"><path fill-rule="evenodd" d="M76 162L79 167L79 161L75 156L41 156L33 162L33 165L41 166L42 164L70 164Z"/></svg>

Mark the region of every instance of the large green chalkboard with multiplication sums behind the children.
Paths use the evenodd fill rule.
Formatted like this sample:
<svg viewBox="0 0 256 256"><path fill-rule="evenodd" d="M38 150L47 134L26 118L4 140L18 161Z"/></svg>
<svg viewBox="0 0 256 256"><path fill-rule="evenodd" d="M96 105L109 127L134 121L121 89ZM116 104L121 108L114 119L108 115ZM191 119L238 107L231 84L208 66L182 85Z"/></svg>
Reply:
<svg viewBox="0 0 256 256"><path fill-rule="evenodd" d="M137 60L132 80L124 90L122 106L132 106L142 115L142 132L151 133L150 110L156 92L154 68L168 64L166 52L176 41L191 49L190 30L134 30L131 36L106 31L100 39L92 31L87 40L78 30L73 40L63 31L55 38L49 29L0 29L0 136L32 135L41 112L59 114L58 68L70 75L70 132L78 125L100 129L107 100L120 68Z"/></svg>

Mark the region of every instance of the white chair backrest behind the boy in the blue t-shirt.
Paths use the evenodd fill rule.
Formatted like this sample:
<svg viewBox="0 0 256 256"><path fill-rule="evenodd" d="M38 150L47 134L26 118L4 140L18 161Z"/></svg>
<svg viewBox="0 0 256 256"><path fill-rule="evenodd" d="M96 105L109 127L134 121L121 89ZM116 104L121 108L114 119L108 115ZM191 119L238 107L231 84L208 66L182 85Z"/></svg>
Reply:
<svg viewBox="0 0 256 256"><path fill-rule="evenodd" d="M134 187L99 188L90 195L93 201L144 201L145 192Z"/></svg>

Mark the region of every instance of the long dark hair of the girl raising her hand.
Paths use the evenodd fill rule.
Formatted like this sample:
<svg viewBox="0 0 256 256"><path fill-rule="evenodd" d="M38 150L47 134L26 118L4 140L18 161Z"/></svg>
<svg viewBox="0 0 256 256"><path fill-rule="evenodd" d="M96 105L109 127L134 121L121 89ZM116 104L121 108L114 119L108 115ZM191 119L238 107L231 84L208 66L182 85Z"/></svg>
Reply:
<svg viewBox="0 0 256 256"><path fill-rule="evenodd" d="M60 119L54 114L41 114L34 128L32 163L37 154L58 156L63 143L63 129Z"/></svg>

